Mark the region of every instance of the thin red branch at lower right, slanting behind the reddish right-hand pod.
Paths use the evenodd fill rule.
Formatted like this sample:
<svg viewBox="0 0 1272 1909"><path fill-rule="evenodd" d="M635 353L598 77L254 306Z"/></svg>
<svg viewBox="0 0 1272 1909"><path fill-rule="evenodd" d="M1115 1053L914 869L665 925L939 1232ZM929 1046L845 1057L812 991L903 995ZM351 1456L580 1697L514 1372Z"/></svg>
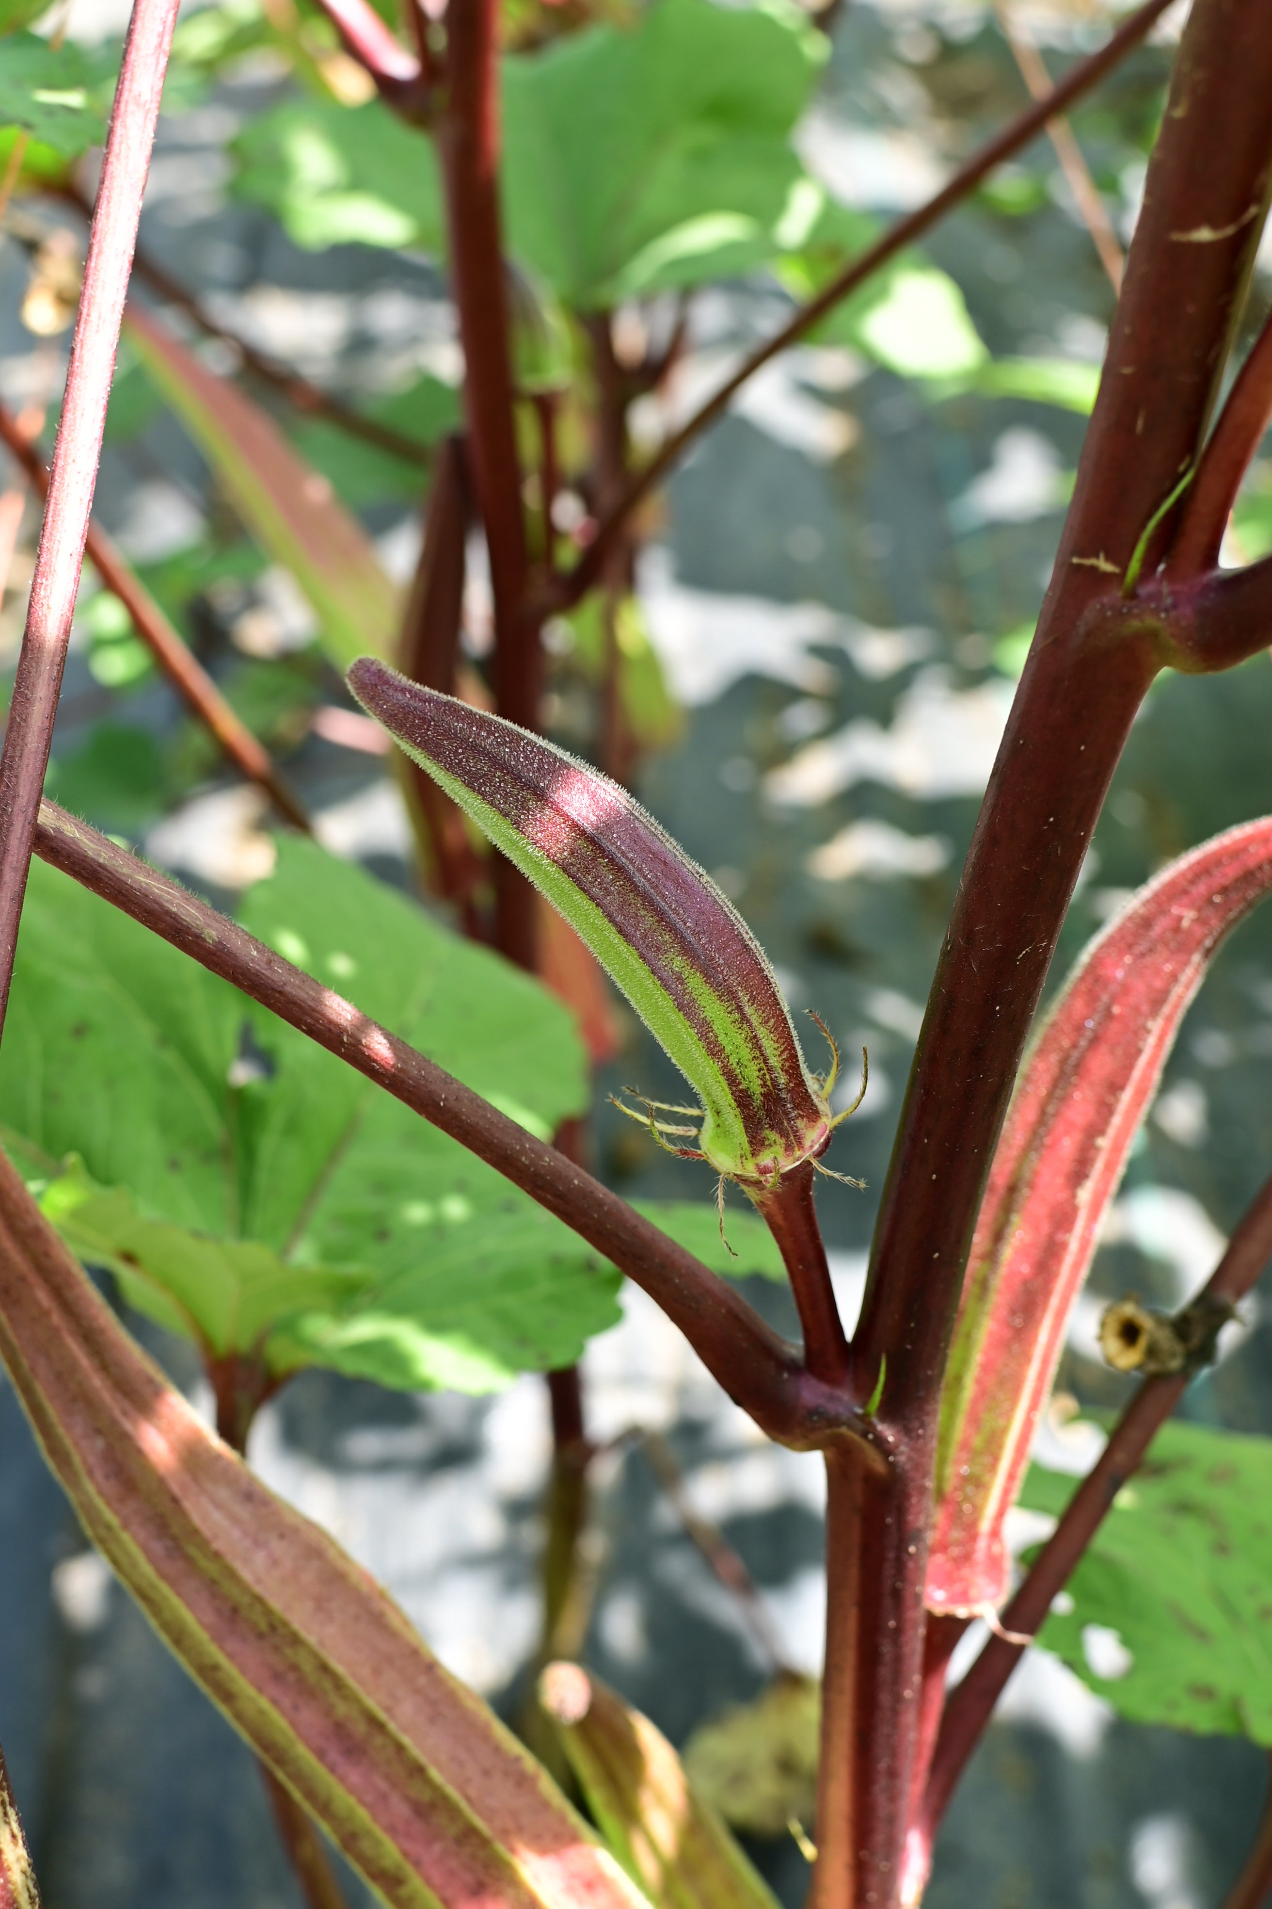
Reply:
<svg viewBox="0 0 1272 1909"><path fill-rule="evenodd" d="M1272 1258L1272 1178L1268 1178L1241 1218L1228 1250L1198 1294L1198 1302L1243 1298ZM1064 1590L1074 1567L1104 1521L1114 1499L1144 1458L1154 1436L1171 1416L1188 1374L1146 1378L1121 1415L1098 1462L1081 1481L1057 1529L1034 1560L1028 1577L1001 1613L1005 1632L1032 1636L1047 1617L1051 1600ZM936 1743L933 1772L923 1800L917 1833L925 1846L936 1829L976 1747L997 1697L1024 1653L1022 1644L992 1636L980 1657L954 1691Z"/></svg>

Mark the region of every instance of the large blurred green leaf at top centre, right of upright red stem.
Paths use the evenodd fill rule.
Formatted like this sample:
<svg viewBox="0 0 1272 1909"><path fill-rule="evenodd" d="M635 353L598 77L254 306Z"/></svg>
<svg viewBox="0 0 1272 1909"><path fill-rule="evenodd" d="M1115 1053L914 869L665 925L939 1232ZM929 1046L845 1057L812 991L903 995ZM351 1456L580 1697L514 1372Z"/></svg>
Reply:
<svg viewBox="0 0 1272 1909"><path fill-rule="evenodd" d="M503 65L513 250L576 309L748 271L810 185L826 42L795 8L658 0Z"/></svg>

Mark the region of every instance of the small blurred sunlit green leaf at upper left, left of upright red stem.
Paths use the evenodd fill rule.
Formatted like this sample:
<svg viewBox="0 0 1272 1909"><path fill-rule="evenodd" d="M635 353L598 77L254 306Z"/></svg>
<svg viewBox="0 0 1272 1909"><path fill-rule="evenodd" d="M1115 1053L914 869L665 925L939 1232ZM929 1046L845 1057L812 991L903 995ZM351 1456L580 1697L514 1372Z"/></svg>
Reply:
<svg viewBox="0 0 1272 1909"><path fill-rule="evenodd" d="M431 143L374 99L296 99L248 120L235 191L267 206L307 252L332 244L444 250Z"/></svg>

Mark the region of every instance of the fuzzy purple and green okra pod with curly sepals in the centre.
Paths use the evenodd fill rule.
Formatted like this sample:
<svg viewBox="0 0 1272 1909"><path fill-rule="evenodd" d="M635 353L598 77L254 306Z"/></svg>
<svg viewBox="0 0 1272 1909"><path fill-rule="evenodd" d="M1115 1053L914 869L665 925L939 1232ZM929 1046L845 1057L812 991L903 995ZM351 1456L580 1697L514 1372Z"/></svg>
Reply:
<svg viewBox="0 0 1272 1909"><path fill-rule="evenodd" d="M765 1187L830 1145L772 968L738 911L626 788L553 743L421 689L372 657L349 687L551 901L696 1090L675 1147ZM667 1136L652 1103L641 1115Z"/></svg>

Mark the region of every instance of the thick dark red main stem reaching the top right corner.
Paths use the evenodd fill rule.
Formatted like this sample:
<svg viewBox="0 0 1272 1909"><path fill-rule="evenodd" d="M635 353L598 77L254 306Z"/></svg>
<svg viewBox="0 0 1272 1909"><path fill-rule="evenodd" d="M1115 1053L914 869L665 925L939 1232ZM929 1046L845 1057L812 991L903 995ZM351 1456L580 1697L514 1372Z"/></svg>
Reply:
<svg viewBox="0 0 1272 1909"><path fill-rule="evenodd" d="M915 1512L919 1590L938 1392L986 1170L1100 804L1165 655L1158 619L1139 624L1118 615L1119 586L1133 557L1152 575L1171 525L1163 519L1144 542L1146 527L1196 456L1213 403L1259 235L1272 153L1261 101L1270 86L1266 10L1257 0L1198 0L1148 172L1074 508L902 1109L852 1357L858 1390L885 1373L877 1418L898 1441L904 1481L896 1497L923 1506ZM1163 309L1175 313L1169 326ZM894 1516L892 1537L900 1523ZM858 1623L860 1653L873 1661L881 1634L873 1621ZM896 1674L872 1691L873 1710L858 1712L845 1731L851 1741L870 1731L873 1741L872 1768L852 1779L862 1798L854 1840L873 1865L862 1877L858 1909L866 1884L881 1909L894 1901L900 1875L917 1735L913 1689L923 1670L921 1598L902 1598L887 1623L900 1626L900 1638L889 1640Z"/></svg>

